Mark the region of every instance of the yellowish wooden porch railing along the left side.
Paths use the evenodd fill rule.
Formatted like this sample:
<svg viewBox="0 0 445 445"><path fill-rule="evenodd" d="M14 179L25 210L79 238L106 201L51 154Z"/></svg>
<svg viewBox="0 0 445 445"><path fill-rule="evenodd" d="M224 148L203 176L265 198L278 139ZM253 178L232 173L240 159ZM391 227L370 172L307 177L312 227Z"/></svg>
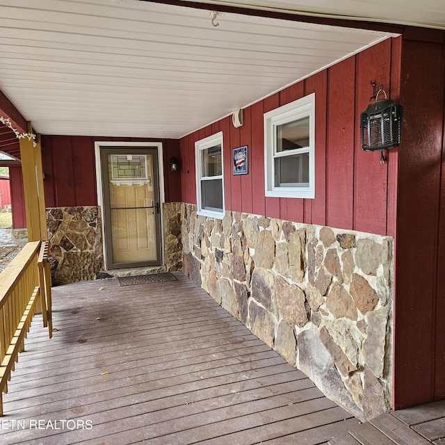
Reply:
<svg viewBox="0 0 445 445"><path fill-rule="evenodd" d="M8 391L11 371L24 351L24 339L36 310L42 312L44 326L52 337L47 250L47 241L27 243L0 274L0 416L3 392Z"/></svg>

